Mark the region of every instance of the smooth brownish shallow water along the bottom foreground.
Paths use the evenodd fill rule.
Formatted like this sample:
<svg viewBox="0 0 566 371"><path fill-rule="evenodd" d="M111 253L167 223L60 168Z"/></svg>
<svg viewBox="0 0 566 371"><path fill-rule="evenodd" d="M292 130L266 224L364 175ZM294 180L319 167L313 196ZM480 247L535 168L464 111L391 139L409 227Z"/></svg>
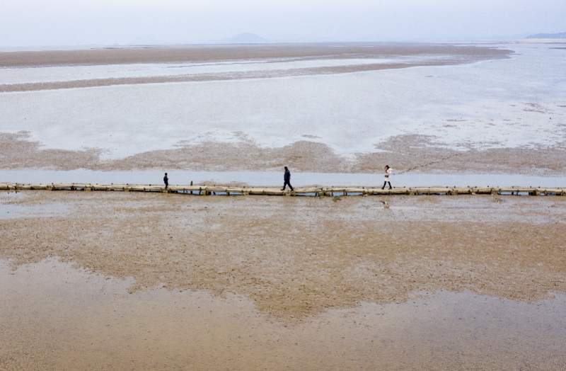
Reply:
<svg viewBox="0 0 566 371"><path fill-rule="evenodd" d="M0 368L101 370L561 370L566 297L527 304L416 292L299 323L239 295L153 290L47 259L0 261Z"/></svg>

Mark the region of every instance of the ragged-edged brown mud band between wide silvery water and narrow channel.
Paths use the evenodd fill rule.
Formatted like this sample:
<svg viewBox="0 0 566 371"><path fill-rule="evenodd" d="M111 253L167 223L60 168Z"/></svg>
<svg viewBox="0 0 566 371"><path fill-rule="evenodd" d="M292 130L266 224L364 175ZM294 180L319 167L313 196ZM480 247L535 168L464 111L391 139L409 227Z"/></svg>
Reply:
<svg viewBox="0 0 566 371"><path fill-rule="evenodd" d="M342 156L328 145L304 141L284 147L240 142L179 144L175 149L142 152L123 159L101 158L103 149L42 149L27 132L0 132L2 169L96 171L279 171L283 166L312 173L381 173L395 164L395 173L509 173L529 176L566 175L563 144L533 148L451 149L432 136L398 135L375 144L376 152ZM16 180L17 181L17 180Z"/></svg>

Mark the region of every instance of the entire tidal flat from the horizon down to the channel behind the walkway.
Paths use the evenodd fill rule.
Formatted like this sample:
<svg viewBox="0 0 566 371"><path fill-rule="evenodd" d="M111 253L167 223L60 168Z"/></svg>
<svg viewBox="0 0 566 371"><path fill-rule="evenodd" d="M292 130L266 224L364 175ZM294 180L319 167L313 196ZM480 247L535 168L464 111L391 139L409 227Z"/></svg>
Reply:
<svg viewBox="0 0 566 371"><path fill-rule="evenodd" d="M9 89L54 89L0 94L0 167L381 173L390 164L402 173L563 176L563 53L506 49L354 43L0 53L14 66L2 69ZM29 63L38 68L16 68ZM127 85L102 86L109 84Z"/></svg>

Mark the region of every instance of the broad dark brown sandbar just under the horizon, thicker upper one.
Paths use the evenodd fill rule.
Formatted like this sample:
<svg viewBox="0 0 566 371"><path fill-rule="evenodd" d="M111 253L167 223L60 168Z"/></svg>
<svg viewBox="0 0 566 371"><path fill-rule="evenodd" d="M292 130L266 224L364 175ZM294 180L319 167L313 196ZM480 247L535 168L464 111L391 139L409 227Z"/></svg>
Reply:
<svg viewBox="0 0 566 371"><path fill-rule="evenodd" d="M466 45L393 42L315 44L186 45L184 47L105 47L88 50L0 52L0 67L93 66L100 64L221 62L254 59L354 59L398 55L458 55L461 58L507 57L509 50Z"/></svg>

